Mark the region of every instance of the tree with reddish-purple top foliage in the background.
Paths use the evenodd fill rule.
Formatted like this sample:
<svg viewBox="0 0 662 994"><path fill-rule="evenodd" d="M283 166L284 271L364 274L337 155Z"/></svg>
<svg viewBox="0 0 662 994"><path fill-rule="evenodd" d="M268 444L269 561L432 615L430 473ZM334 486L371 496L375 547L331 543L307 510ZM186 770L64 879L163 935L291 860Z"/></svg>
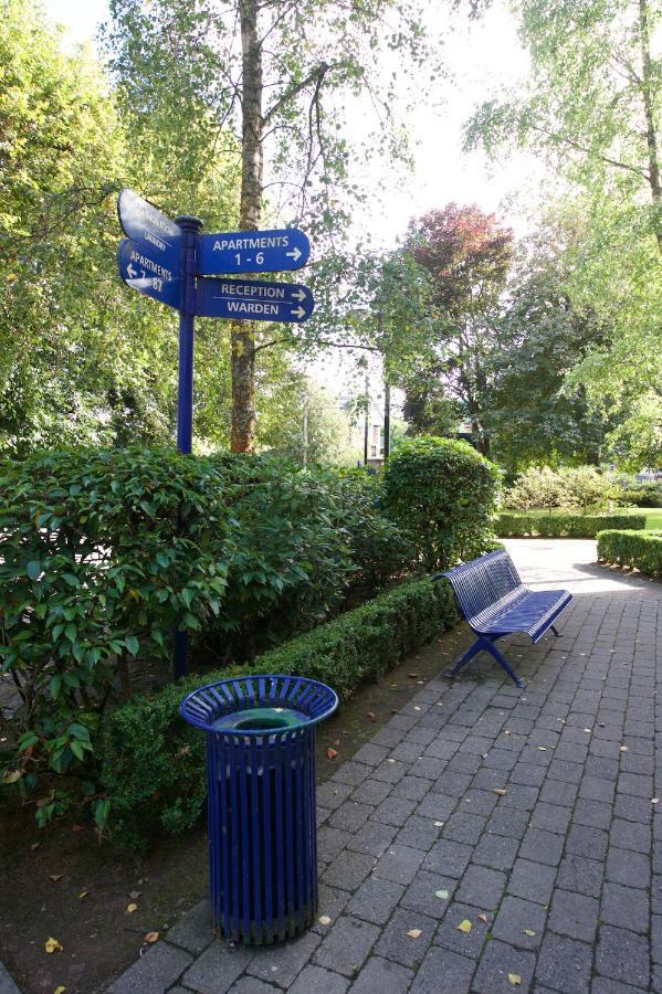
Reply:
<svg viewBox="0 0 662 994"><path fill-rule="evenodd" d="M458 403L471 421L479 452L486 454L494 322L511 265L513 233L494 214L450 203L410 223L408 247L430 274L437 308L435 361L417 370L409 402L429 383L423 411L430 396L438 405L446 398ZM446 410L441 403L440 412Z"/></svg>

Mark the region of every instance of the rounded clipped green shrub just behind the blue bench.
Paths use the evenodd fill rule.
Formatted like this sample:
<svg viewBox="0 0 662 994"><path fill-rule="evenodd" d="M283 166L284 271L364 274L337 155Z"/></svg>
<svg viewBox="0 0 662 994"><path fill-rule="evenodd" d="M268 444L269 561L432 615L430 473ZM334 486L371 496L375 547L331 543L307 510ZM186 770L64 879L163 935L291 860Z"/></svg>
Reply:
<svg viewBox="0 0 662 994"><path fill-rule="evenodd" d="M383 470L385 508L411 536L425 569L480 554L490 540L498 468L466 442L420 436Z"/></svg>

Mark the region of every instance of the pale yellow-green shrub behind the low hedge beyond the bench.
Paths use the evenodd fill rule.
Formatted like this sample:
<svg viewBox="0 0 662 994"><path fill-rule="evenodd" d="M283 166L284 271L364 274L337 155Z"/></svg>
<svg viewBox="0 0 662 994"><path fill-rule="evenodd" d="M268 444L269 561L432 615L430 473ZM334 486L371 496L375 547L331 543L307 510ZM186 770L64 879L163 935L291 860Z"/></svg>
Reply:
<svg viewBox="0 0 662 994"><path fill-rule="evenodd" d="M504 496L508 508L580 507L600 509L618 500L620 488L611 476L595 466L576 466L550 469L548 466L529 466Z"/></svg>

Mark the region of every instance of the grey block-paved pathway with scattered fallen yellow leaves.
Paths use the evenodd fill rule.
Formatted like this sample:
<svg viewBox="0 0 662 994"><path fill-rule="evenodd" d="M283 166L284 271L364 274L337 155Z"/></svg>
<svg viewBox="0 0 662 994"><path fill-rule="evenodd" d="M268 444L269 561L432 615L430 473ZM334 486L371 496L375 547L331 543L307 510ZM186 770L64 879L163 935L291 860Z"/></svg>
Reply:
<svg viewBox="0 0 662 994"><path fill-rule="evenodd" d="M507 544L576 594L561 638L504 641L526 690L479 656L323 784L311 932L231 949L201 902L112 994L662 992L662 585Z"/></svg>

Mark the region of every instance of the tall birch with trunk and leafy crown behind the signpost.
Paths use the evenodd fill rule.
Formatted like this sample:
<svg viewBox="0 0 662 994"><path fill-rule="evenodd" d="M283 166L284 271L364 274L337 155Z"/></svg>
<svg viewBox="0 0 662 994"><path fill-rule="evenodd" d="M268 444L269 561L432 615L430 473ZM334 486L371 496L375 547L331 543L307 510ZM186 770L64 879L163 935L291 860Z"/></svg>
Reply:
<svg viewBox="0 0 662 994"><path fill-rule="evenodd" d="M348 218L348 149L343 102L362 97L379 108L366 147L398 154L391 127L393 81L383 83L380 52L421 64L424 32L411 0L112 0L114 61L134 107L148 113L149 74L159 59L161 86L180 81L200 118L220 136L241 134L239 224L254 230L264 218L265 193L292 220L306 219L317 236L333 236ZM427 72L434 75L432 60ZM187 77L188 81L187 82ZM183 135L181 141L183 141ZM270 167L265 181L265 158ZM272 176L273 173L273 176ZM273 197L274 190L279 191ZM262 334L248 322L231 331L232 440L238 452L255 445L255 357Z"/></svg>

